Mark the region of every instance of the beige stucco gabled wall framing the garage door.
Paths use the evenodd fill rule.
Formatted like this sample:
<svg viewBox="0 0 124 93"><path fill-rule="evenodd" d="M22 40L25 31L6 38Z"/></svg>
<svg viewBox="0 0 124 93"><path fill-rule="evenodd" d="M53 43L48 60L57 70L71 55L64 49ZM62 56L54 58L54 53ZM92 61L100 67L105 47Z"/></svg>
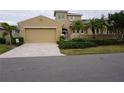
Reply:
<svg viewBox="0 0 124 93"><path fill-rule="evenodd" d="M62 24L56 20L47 18L45 16L38 16L38 17L34 17L22 22L18 23L19 29L20 29L20 34L22 37L26 37L25 34L25 28L55 28L56 29L56 41L59 40L61 31L62 31ZM36 37L36 36L34 36Z"/></svg>

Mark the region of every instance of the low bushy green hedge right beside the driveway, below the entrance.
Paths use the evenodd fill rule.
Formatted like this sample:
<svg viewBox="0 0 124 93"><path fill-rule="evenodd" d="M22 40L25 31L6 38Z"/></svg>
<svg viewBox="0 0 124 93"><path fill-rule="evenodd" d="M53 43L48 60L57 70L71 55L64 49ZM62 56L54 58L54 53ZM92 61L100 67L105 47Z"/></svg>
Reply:
<svg viewBox="0 0 124 93"><path fill-rule="evenodd" d="M59 43L59 48L61 49L74 49L74 48L88 48L97 46L93 42L72 42L64 41Z"/></svg>

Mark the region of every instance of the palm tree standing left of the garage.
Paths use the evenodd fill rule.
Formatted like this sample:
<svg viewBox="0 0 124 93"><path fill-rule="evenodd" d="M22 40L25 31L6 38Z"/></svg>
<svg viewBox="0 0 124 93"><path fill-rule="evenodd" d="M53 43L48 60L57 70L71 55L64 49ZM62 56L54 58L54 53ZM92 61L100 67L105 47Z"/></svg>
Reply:
<svg viewBox="0 0 124 93"><path fill-rule="evenodd" d="M6 32L3 33L3 37L5 38L6 35L10 36L10 44L12 44L13 36L12 31L16 30L16 26L11 26L8 23L2 23L1 26L5 29Z"/></svg>

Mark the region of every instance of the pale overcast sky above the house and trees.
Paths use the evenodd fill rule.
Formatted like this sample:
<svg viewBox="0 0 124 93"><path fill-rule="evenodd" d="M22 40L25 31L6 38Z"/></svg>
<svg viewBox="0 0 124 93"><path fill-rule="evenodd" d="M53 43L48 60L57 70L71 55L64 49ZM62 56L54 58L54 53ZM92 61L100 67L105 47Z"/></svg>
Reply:
<svg viewBox="0 0 124 93"><path fill-rule="evenodd" d="M70 13L82 14L82 19L89 19L93 17L100 18L101 15L107 16L108 13L119 12L119 10L69 10ZM8 22L11 25L17 22L32 18L39 15L44 15L54 19L53 10L0 10L0 22Z"/></svg>

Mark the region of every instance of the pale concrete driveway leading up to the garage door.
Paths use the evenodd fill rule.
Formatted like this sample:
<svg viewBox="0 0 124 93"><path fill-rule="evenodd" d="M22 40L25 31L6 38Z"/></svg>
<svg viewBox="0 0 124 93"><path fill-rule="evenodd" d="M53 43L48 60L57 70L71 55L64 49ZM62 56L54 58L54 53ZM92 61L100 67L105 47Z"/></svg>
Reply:
<svg viewBox="0 0 124 93"><path fill-rule="evenodd" d="M60 53L56 43L27 43L0 55L0 58L40 56L63 56L63 54Z"/></svg>

